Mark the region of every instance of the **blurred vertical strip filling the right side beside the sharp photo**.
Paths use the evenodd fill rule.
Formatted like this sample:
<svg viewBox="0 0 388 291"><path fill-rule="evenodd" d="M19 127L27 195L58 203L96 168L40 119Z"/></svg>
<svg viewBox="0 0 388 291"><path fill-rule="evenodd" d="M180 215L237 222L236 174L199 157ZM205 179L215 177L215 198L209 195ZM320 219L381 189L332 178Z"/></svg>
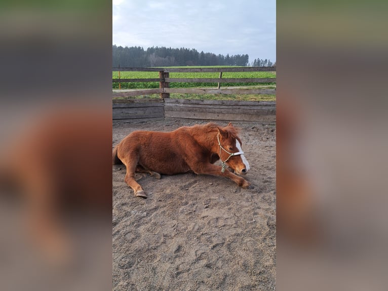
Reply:
<svg viewBox="0 0 388 291"><path fill-rule="evenodd" d="M386 289L380 6L278 2L278 290Z"/></svg>

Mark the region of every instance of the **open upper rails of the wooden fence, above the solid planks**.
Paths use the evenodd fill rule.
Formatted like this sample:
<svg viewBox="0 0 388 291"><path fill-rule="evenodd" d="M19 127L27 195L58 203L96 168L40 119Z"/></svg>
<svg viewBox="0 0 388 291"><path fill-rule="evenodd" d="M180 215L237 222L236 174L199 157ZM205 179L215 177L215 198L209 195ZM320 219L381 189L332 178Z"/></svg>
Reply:
<svg viewBox="0 0 388 291"><path fill-rule="evenodd" d="M202 67L202 68L133 68L113 67L112 71L158 71L159 78L146 79L112 79L112 82L159 82L159 89L113 90L113 97L160 94L169 98L170 93L196 94L276 94L276 89L221 89L221 83L276 83L276 78L222 78L222 72L276 71L276 67ZM170 72L219 72L219 78L170 78ZM119 75L120 76L120 75ZM170 83L217 83L217 88L170 88Z"/></svg>

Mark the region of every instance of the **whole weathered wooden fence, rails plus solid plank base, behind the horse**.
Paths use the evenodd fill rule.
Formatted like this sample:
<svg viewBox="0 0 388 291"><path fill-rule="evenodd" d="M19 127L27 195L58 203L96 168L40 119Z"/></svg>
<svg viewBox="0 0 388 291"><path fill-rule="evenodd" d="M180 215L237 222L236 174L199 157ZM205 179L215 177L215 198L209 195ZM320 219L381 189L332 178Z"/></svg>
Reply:
<svg viewBox="0 0 388 291"><path fill-rule="evenodd" d="M170 99L170 93L276 94L276 89L221 88L221 83L268 83L276 78L222 78L222 72L276 71L276 67L113 68L113 71L159 71L159 78L112 79L112 82L159 82L159 88L113 90L113 97L160 94L160 99L113 99L113 120L164 117L230 121L276 121L276 102ZM219 78L170 78L170 72L219 72ZM170 88L170 83L218 83L217 88Z"/></svg>

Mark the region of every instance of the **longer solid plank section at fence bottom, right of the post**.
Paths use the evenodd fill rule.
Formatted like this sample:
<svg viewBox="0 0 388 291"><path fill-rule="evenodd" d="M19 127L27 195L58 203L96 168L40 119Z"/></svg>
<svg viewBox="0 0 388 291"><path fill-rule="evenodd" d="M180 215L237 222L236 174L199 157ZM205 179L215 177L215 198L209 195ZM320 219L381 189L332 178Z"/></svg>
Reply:
<svg viewBox="0 0 388 291"><path fill-rule="evenodd" d="M276 102L166 98L165 117L276 123Z"/></svg>

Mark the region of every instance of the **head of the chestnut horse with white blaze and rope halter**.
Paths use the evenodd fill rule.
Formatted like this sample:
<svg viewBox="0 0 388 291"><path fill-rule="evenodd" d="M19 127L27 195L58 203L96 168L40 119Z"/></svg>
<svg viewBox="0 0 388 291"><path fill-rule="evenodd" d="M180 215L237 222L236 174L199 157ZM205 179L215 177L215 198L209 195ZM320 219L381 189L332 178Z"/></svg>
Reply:
<svg viewBox="0 0 388 291"><path fill-rule="evenodd" d="M237 174L246 174L249 170L249 163L241 148L241 139L237 136L236 128L229 122L226 127L217 127L219 154L222 162L222 172L226 165L232 168Z"/></svg>

